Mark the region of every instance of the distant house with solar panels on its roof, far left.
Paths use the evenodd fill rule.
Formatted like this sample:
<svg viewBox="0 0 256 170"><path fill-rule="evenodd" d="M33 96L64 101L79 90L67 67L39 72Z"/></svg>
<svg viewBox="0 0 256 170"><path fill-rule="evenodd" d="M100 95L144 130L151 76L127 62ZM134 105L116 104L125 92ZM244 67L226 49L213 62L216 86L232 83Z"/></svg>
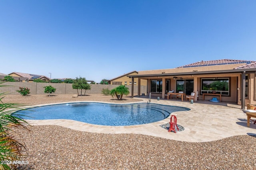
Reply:
<svg viewBox="0 0 256 170"><path fill-rule="evenodd" d="M43 75L38 74L28 74L28 73L22 73L22 72L12 72L8 74L9 76L19 77L20 79L26 78L26 80L22 80L22 82L33 82L35 79L45 80L46 82L50 81L50 78Z"/></svg>

